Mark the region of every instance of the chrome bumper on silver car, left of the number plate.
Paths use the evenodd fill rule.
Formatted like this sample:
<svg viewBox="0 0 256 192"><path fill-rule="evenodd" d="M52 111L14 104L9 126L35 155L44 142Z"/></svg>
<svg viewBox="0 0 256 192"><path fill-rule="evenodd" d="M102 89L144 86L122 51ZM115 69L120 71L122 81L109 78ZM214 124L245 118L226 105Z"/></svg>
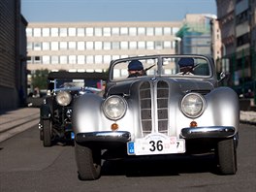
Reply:
<svg viewBox="0 0 256 192"><path fill-rule="evenodd" d="M131 140L131 134L128 131L101 131L90 133L79 133L76 135L78 143L84 142L117 142L127 143Z"/></svg>

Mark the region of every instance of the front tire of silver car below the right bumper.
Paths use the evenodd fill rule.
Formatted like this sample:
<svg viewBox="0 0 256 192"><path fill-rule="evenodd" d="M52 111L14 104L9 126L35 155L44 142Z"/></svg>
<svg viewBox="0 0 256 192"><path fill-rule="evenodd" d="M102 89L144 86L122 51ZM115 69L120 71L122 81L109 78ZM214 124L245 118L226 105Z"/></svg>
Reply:
<svg viewBox="0 0 256 192"><path fill-rule="evenodd" d="M237 173L237 147L233 138L218 142L217 157L220 174L235 175Z"/></svg>

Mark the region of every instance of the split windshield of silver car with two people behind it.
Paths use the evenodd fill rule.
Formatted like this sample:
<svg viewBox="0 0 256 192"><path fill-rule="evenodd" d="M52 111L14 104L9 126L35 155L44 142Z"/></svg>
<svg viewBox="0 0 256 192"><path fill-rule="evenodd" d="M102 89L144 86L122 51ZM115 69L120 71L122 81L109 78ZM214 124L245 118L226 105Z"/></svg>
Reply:
<svg viewBox="0 0 256 192"><path fill-rule="evenodd" d="M212 75L210 69L208 59L201 56L142 56L114 61L111 68L111 80L142 78L144 76L208 78Z"/></svg>

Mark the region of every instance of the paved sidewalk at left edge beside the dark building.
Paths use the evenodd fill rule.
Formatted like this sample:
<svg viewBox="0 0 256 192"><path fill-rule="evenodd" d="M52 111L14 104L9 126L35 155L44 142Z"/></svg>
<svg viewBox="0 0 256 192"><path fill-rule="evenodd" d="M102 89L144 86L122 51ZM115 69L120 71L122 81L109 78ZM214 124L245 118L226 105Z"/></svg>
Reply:
<svg viewBox="0 0 256 192"><path fill-rule="evenodd" d="M0 142L39 123L39 108L20 108L0 112Z"/></svg>

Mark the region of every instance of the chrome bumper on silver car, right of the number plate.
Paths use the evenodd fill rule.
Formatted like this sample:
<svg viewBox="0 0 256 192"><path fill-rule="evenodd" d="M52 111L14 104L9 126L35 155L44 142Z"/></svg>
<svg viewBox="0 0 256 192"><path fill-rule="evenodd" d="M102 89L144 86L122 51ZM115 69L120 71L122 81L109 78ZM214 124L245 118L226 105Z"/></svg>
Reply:
<svg viewBox="0 0 256 192"><path fill-rule="evenodd" d="M231 126L211 126L211 127L188 127L181 129L181 138L199 139L199 138L230 138L236 134L235 127Z"/></svg>

